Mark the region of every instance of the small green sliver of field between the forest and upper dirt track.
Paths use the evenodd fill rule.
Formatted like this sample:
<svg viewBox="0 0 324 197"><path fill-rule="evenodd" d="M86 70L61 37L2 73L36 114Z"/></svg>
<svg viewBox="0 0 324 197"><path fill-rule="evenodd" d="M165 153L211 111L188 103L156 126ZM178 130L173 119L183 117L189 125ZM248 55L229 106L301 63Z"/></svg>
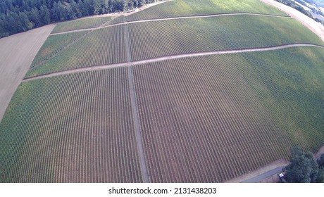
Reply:
<svg viewBox="0 0 324 197"><path fill-rule="evenodd" d="M70 20L63 23L58 23L51 33L54 34L59 32L68 32L73 30L82 30L82 29L99 27L100 25L109 23L109 21L112 19L113 18L111 17L97 17L97 18L80 18L77 20Z"/></svg>

